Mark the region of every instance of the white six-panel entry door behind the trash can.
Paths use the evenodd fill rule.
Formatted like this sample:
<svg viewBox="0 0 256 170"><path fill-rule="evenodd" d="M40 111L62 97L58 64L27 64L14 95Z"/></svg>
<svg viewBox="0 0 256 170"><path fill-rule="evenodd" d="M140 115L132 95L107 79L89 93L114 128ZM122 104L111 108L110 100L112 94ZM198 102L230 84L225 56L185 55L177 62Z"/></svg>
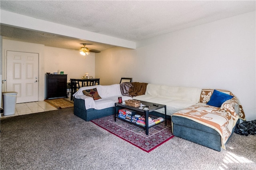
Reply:
<svg viewBox="0 0 256 170"><path fill-rule="evenodd" d="M38 101L38 53L7 51L7 91L16 91L17 102Z"/></svg>

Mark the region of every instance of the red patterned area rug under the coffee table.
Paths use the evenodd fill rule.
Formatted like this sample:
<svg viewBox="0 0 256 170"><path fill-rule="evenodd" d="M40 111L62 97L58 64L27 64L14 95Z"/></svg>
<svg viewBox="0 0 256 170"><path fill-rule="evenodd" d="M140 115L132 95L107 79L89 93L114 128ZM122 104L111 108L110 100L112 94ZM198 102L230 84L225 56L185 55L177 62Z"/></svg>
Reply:
<svg viewBox="0 0 256 170"><path fill-rule="evenodd" d="M170 120L167 120L167 126L165 126L163 122L150 127L148 135L146 135L146 131L143 127L118 118L116 118L115 122L114 119L114 116L110 115L92 120L91 122L146 152L152 151L174 137Z"/></svg>

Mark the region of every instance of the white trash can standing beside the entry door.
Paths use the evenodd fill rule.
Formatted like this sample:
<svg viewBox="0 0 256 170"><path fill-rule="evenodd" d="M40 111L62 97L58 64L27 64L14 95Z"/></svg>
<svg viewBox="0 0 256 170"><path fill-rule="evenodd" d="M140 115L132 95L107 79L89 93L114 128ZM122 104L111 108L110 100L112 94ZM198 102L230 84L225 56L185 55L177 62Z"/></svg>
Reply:
<svg viewBox="0 0 256 170"><path fill-rule="evenodd" d="M2 92L4 116L15 114L17 94L16 91Z"/></svg>

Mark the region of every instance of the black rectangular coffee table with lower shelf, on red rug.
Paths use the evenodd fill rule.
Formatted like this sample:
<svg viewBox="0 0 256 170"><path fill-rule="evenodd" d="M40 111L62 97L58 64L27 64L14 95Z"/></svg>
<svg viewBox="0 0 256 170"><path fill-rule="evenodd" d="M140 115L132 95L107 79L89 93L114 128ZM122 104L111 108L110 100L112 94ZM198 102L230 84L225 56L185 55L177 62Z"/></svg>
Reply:
<svg viewBox="0 0 256 170"><path fill-rule="evenodd" d="M130 110L136 111L138 113L142 113L142 114L145 115L145 129L146 129L146 135L148 135L148 128L149 128L148 127L148 115L149 115L149 113L152 112L152 111L156 111L158 109L164 108L164 121L165 121L165 125L167 125L167 123L166 123L166 119L167 119L166 105L160 105L160 104L157 104L157 103L150 103L150 102L146 102L146 101L140 101L140 103L142 103L142 105L149 106L149 107L147 107L148 110L139 109L139 107L132 107L132 106L123 105L122 103L115 103L115 122L116 122L116 118L119 118L118 117L118 110L119 109L124 109L125 108L125 109L130 109ZM158 106L155 106L155 105L158 105ZM122 119L122 120L126 120L126 119ZM128 122L133 123L132 121L128 121ZM133 124L138 125L136 123L133 123ZM138 126L140 126L140 125L138 125ZM151 126L151 127L153 127L153 126Z"/></svg>

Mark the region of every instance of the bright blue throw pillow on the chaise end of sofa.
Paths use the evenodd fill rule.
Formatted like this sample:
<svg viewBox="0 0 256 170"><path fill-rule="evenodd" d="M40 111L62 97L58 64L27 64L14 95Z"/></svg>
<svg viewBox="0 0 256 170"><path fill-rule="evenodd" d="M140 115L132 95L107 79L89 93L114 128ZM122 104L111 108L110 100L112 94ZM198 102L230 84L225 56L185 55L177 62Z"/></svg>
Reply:
<svg viewBox="0 0 256 170"><path fill-rule="evenodd" d="M214 106L214 107L221 107L222 103L225 101L232 99L234 96L228 95L226 93L222 93L220 91L214 90L210 101L206 103L206 105Z"/></svg>

